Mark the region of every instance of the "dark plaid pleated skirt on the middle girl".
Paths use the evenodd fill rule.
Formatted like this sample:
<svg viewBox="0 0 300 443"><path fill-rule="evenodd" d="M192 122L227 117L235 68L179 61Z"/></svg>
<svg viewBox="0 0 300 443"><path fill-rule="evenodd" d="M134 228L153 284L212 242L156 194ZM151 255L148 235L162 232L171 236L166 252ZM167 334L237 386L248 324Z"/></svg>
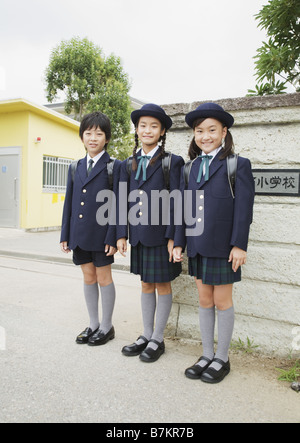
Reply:
<svg viewBox="0 0 300 443"><path fill-rule="evenodd" d="M131 246L130 272L141 276L144 283L167 283L181 274L181 263L170 263L167 245Z"/></svg>

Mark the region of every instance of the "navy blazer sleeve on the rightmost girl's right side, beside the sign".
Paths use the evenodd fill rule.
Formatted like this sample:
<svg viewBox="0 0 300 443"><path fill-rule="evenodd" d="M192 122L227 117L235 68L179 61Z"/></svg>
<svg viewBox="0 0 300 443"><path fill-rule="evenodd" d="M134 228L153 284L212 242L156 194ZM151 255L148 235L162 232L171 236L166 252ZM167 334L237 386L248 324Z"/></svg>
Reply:
<svg viewBox="0 0 300 443"><path fill-rule="evenodd" d="M231 245L247 251L255 196L250 160L238 159Z"/></svg>

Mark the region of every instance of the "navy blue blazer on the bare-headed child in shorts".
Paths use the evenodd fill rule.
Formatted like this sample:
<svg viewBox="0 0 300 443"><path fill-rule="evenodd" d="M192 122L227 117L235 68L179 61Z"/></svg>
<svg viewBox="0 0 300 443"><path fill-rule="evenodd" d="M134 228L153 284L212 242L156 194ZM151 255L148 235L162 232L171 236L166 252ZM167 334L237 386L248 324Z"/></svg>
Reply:
<svg viewBox="0 0 300 443"><path fill-rule="evenodd" d="M74 183L71 167L68 173L67 191L64 203L61 242L68 242L74 250L77 246L85 251L104 251L105 245L116 246L116 226L100 226L96 219L98 209L107 200L97 202L99 191L109 189L107 163L110 156L105 152L87 177L86 157L78 161ZM121 161L116 160L113 172L113 188L116 194Z"/></svg>

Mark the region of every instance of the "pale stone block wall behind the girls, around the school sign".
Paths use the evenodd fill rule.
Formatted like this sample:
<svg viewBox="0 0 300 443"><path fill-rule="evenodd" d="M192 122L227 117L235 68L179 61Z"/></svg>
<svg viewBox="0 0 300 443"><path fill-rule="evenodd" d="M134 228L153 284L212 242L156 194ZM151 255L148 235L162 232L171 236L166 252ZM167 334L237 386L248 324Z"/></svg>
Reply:
<svg viewBox="0 0 300 443"><path fill-rule="evenodd" d="M300 93L218 100L235 118L235 152L253 169L300 169ZM163 105L174 125L167 149L187 159L192 131L184 116L200 102ZM300 197L256 196L248 261L234 285L234 340L287 355L300 343ZM184 272L174 283L169 334L199 341L198 295ZM299 351L298 351L299 352Z"/></svg>

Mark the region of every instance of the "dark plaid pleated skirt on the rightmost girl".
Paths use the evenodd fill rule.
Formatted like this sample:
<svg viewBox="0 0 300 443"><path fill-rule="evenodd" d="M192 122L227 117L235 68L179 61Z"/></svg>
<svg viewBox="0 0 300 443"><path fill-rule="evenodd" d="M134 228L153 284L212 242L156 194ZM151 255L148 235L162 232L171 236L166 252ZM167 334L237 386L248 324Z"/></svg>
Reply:
<svg viewBox="0 0 300 443"><path fill-rule="evenodd" d="M241 281L241 267L236 272L227 258L189 257L189 274L205 285L228 285Z"/></svg>

